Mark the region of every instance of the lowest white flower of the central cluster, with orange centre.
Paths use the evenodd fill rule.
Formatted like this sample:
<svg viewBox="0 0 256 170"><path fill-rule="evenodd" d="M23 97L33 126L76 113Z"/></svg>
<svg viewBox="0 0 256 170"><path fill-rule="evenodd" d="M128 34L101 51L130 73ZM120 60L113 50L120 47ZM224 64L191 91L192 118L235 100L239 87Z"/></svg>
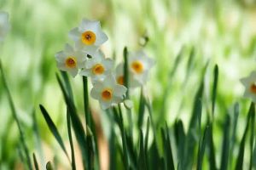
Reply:
<svg viewBox="0 0 256 170"><path fill-rule="evenodd" d="M112 105L119 104L123 101L127 88L119 85L113 75L109 75L103 81L93 83L90 91L92 98L99 100L102 109L108 109Z"/></svg>

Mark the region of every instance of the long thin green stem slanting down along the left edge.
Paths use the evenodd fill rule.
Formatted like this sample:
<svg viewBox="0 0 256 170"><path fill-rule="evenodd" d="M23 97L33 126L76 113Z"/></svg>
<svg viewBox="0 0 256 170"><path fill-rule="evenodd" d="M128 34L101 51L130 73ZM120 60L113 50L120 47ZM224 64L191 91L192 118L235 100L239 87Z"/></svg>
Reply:
<svg viewBox="0 0 256 170"><path fill-rule="evenodd" d="M29 150L28 150L26 142L25 142L25 135L23 133L22 127L20 125L20 120L19 120L19 118L17 116L17 112L15 110L15 104L14 104L14 101L13 101L12 96L10 94L9 87L7 85L7 82L6 82L6 79L5 79L5 76L4 76L3 66L2 66L2 62L1 61L0 61L0 71L1 71L1 75L2 75L3 87L6 89L7 97L8 97L8 100L9 100L9 106L10 106L12 115L14 116L15 122L16 122L16 124L18 126L18 129L19 129L20 143L22 144L22 147L23 147L25 155L26 155L26 164L27 164L28 168L30 170L32 170L32 162L30 160Z"/></svg>

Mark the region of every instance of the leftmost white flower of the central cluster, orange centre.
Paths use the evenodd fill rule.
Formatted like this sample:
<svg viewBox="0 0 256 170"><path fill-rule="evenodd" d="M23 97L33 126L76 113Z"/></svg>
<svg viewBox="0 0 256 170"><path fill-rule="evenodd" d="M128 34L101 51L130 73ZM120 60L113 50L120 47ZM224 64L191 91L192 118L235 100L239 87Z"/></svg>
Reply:
<svg viewBox="0 0 256 170"><path fill-rule="evenodd" d="M79 68L84 67L86 55L83 51L74 49L67 43L63 51L55 54L55 59L61 71L68 71L75 77L78 74Z"/></svg>

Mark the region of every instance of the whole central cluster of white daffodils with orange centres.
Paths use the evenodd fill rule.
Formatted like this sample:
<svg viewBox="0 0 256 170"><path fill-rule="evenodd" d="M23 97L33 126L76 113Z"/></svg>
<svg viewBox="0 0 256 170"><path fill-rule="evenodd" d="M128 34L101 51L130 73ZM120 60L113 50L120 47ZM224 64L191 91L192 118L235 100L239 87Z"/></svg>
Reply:
<svg viewBox="0 0 256 170"><path fill-rule="evenodd" d="M122 102L127 90L124 86L124 63L113 71L113 60L102 53L100 47L108 37L102 31L100 22L84 19L79 27L69 31L68 37L74 41L74 47L66 44L62 51L55 54L58 68L68 71L73 77L78 74L90 77L93 85L90 95L100 102L102 109ZM130 87L143 86L153 65L153 59L143 51L129 54Z"/></svg>

